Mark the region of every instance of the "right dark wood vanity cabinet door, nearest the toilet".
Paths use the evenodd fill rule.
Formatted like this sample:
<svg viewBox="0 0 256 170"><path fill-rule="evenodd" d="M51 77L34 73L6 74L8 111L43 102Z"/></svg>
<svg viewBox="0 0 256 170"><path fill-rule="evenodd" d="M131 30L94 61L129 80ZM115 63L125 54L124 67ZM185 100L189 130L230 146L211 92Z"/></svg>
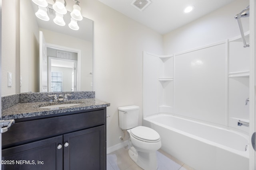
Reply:
<svg viewBox="0 0 256 170"><path fill-rule="evenodd" d="M104 125L63 135L63 145L64 170L105 170Z"/></svg>

